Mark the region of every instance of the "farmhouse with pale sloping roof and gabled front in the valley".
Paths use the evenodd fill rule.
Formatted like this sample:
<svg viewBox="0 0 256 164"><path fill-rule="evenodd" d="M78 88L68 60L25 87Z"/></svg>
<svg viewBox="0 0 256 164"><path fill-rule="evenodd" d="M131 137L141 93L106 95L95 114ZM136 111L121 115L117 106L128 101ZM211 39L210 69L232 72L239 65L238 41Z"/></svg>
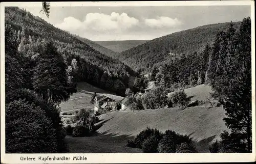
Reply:
<svg viewBox="0 0 256 164"><path fill-rule="evenodd" d="M117 102L122 101L123 99L124 97L111 94L96 96L94 99L94 112L97 112L99 109L103 110L106 107L110 107L112 110L116 110Z"/></svg>

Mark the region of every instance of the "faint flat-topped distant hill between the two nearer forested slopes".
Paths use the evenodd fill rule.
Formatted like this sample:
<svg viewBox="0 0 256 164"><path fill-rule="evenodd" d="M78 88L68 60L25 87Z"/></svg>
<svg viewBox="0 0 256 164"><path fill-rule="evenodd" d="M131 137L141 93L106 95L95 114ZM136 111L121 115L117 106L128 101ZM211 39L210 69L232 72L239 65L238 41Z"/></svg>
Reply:
<svg viewBox="0 0 256 164"><path fill-rule="evenodd" d="M118 40L118 41L94 41L103 47L111 49L115 52L122 52L127 49L136 47L149 40Z"/></svg>

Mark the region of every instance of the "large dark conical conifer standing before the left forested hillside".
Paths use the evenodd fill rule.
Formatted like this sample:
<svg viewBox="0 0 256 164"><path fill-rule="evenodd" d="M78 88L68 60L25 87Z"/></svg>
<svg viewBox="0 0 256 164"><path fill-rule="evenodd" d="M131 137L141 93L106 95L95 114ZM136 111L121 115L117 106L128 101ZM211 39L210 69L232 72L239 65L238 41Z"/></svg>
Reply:
<svg viewBox="0 0 256 164"><path fill-rule="evenodd" d="M33 87L42 99L59 103L76 92L75 86L68 83L66 69L61 54L51 42L46 43L33 77Z"/></svg>

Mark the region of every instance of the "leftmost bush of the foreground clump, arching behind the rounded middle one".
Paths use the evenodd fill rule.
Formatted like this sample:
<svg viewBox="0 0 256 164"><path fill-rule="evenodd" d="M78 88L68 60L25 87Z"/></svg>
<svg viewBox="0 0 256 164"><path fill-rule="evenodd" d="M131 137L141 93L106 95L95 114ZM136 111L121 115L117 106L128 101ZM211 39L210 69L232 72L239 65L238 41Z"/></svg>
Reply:
<svg viewBox="0 0 256 164"><path fill-rule="evenodd" d="M150 137L151 135L155 135L156 138L162 138L162 133L159 132L159 130L157 129L151 129L149 127L147 127L145 130L142 130L135 138L135 140L129 141L127 146L129 145L135 145L136 148L140 148L142 149L142 144L143 142Z"/></svg>

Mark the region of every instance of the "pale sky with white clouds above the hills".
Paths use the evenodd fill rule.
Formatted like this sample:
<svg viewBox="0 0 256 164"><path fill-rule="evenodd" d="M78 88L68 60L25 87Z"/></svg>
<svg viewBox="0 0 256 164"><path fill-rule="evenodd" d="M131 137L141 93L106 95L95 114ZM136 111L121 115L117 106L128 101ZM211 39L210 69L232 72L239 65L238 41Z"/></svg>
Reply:
<svg viewBox="0 0 256 164"><path fill-rule="evenodd" d="M241 21L250 6L24 7L59 29L93 40L150 40L200 25Z"/></svg>

